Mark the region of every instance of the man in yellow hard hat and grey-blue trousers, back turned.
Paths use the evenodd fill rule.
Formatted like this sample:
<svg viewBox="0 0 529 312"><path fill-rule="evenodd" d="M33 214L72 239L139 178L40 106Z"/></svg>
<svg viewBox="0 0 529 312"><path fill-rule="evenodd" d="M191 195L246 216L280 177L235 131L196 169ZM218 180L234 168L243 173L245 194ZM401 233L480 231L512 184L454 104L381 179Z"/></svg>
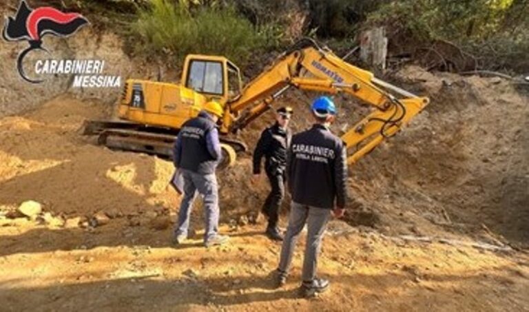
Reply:
<svg viewBox="0 0 529 312"><path fill-rule="evenodd" d="M183 124L176 138L174 165L183 177L183 198L174 230L176 244L187 239L189 217L197 191L204 200L204 245L222 245L229 239L218 233L218 185L215 175L222 157L216 123L223 113L220 103L209 101L198 116Z"/></svg>

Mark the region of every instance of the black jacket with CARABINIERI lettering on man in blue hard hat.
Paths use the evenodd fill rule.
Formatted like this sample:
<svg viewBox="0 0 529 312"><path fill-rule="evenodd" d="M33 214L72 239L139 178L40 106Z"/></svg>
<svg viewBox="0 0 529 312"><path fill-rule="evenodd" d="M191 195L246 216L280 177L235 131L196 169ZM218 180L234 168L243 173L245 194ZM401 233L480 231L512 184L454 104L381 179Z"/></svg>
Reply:
<svg viewBox="0 0 529 312"><path fill-rule="evenodd" d="M345 144L323 125L295 134L287 165L292 200L320 208L344 208L346 158Z"/></svg>

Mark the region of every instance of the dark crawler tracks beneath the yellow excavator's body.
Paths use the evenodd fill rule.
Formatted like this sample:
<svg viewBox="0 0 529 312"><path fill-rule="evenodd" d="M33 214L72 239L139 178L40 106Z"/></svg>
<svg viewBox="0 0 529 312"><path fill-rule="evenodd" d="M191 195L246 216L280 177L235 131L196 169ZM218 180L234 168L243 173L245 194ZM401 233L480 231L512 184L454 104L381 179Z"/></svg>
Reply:
<svg viewBox="0 0 529 312"><path fill-rule="evenodd" d="M172 159L172 149L178 132L125 121L85 121L83 135L98 136L98 145L105 145L110 149ZM221 137L220 142L224 156L220 167L231 167L238 153L247 152L247 145L241 141Z"/></svg>

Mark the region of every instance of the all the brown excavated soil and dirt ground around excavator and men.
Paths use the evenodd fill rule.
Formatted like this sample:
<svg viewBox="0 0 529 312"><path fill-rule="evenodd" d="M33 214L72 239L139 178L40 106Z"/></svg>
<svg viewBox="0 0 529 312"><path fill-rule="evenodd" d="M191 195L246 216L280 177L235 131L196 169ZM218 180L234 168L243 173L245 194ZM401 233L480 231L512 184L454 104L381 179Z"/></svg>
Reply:
<svg viewBox="0 0 529 312"><path fill-rule="evenodd" d="M296 293L302 246L287 286L271 289L280 245L261 235L262 223L248 224L268 189L249 183L248 156L219 174L229 245L200 246L198 204L196 236L172 247L172 164L80 134L84 120L112 107L65 94L1 118L1 309L529 311L528 96L499 79L417 67L399 76L432 103L350 168L360 208L331 222L319 265L333 284L317 300ZM313 95L280 101L295 107L295 130L309 126ZM337 101L339 132L366 108ZM271 118L240 138L253 146ZM43 214L17 215L26 200Z"/></svg>

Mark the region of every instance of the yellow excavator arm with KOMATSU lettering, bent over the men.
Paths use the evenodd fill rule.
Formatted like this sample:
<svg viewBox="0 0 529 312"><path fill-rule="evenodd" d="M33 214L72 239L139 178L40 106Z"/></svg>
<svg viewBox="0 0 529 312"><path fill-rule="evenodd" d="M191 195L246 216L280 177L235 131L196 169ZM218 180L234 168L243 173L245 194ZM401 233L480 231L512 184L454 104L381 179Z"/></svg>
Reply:
<svg viewBox="0 0 529 312"><path fill-rule="evenodd" d="M228 103L230 114L225 114L221 130L242 129L269 110L273 100L289 87L329 94L344 92L373 107L368 116L342 135L350 164L371 152L384 138L396 134L429 102L426 97L375 78L372 72L355 67L306 39L279 56L245 86L238 98Z"/></svg>

